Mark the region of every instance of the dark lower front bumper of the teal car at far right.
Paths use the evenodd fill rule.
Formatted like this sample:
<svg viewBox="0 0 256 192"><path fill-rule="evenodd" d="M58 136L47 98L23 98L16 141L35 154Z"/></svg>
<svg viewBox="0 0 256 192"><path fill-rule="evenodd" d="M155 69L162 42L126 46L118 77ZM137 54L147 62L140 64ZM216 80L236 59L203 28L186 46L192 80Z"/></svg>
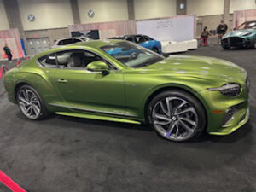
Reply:
<svg viewBox="0 0 256 192"><path fill-rule="evenodd" d="M221 45L223 47L251 47L252 40L250 38L239 38L239 37L229 37L223 38L221 40Z"/></svg>

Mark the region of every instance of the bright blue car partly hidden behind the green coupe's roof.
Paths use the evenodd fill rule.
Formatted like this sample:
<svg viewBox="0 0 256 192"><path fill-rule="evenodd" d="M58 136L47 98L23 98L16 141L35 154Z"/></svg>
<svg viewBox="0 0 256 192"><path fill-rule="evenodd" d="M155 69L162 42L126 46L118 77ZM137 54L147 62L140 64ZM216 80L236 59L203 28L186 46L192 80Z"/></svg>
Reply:
<svg viewBox="0 0 256 192"><path fill-rule="evenodd" d="M144 48L153 50L158 54L162 54L162 47L161 47L160 41L154 40L153 38L149 38L146 35L125 35L125 36L113 37L109 39L122 39L122 40L131 41L135 44L139 44L143 46Z"/></svg>

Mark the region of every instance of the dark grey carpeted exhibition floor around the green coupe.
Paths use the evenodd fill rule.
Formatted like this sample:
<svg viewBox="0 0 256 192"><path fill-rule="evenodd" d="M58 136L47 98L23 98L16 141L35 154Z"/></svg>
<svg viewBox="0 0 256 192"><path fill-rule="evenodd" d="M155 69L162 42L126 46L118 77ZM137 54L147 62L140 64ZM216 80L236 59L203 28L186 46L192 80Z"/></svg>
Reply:
<svg viewBox="0 0 256 192"><path fill-rule="evenodd" d="M256 49L214 46L185 55L219 57L247 69L247 125L230 136L172 143L143 125L63 116L30 121L3 94L0 170L35 192L256 191Z"/></svg>

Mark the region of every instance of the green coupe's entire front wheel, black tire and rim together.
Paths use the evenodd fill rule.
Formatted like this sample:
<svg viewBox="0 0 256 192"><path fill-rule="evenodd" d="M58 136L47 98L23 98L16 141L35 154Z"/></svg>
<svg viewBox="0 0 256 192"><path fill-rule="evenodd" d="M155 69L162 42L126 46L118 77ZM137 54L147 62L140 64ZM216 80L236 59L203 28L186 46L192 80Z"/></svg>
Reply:
<svg viewBox="0 0 256 192"><path fill-rule="evenodd" d="M183 90L166 90L149 103L148 121L161 137L172 142L185 142L201 135L207 116L195 96Z"/></svg>

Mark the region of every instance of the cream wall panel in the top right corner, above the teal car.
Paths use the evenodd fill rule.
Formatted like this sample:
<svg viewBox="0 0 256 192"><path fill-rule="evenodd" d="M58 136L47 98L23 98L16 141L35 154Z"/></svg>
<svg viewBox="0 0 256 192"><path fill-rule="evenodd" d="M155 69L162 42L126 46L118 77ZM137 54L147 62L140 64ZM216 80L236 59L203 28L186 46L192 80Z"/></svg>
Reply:
<svg viewBox="0 0 256 192"><path fill-rule="evenodd" d="M256 9L255 0L230 0L230 14L245 9Z"/></svg>

